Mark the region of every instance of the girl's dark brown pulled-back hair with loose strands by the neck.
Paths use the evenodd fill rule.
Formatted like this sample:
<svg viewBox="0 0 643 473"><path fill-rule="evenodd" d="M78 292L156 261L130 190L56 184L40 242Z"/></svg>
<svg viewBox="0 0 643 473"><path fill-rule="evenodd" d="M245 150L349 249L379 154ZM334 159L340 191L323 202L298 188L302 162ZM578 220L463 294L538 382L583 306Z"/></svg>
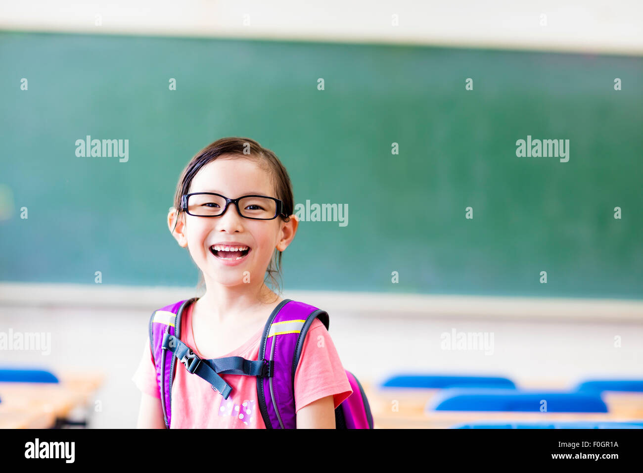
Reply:
<svg viewBox="0 0 643 473"><path fill-rule="evenodd" d="M289 221L289 216L293 214L294 209L293 185L291 184L290 177L284 165L275 153L262 147L255 140L230 136L228 138L221 138L204 147L199 153L194 155L194 158L192 158L185 169L183 169L174 194L174 209L177 210L176 223L179 220L179 216L183 214L183 209L181 209L181 196L188 194L190 191L190 185L192 185L194 176L197 175L197 172L199 172L204 165L213 162L224 154L226 155L224 156L225 158L246 158L254 160L257 165L269 173L271 184L273 185L273 189L275 189L275 197L282 201L282 212L287 216L284 218L283 215L280 215L278 218L286 222ZM174 228L176 228L176 223L174 224ZM172 228L172 232L174 232L174 228ZM275 278L275 274L281 277L281 259L282 252L275 248L275 254L273 254L270 260L270 264L266 270L267 275L264 279L264 283L266 283L267 277L270 277L278 289L278 293L281 293L281 289ZM276 268L273 268L273 263L276 263ZM197 288L203 283L203 273L201 273Z"/></svg>

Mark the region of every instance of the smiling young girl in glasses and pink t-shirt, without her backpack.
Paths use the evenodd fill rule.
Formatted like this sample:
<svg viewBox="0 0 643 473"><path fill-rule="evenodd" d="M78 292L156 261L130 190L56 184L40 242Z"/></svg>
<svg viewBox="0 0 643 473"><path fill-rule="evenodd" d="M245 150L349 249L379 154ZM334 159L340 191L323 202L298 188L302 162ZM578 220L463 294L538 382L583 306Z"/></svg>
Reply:
<svg viewBox="0 0 643 473"><path fill-rule="evenodd" d="M239 199L244 196L254 197ZM198 357L259 359L266 320L284 301L266 286L264 277L276 283L282 252L297 230L293 207L284 166L272 151L249 138L221 138L199 151L184 169L168 226L179 245L188 248L206 285L203 297L190 304L181 319L181 340ZM317 343L320 336L323 344ZM257 378L221 377L232 388L227 400L177 363L170 428L266 429L257 406ZM143 393L138 427L164 429L149 338L132 380ZM331 337L314 319L294 376L297 428L334 429L334 409L351 393Z"/></svg>

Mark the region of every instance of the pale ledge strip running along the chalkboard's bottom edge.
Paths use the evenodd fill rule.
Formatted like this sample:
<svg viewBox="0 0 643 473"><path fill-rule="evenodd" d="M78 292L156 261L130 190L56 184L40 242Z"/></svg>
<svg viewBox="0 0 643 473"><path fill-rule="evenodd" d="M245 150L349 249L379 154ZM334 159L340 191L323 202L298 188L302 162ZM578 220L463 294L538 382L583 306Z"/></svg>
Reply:
<svg viewBox="0 0 643 473"><path fill-rule="evenodd" d="M60 306L154 310L198 297L195 288L107 284L0 283L0 306ZM601 321L643 323L643 301L623 299L542 299L472 295L285 291L329 313L367 317Z"/></svg>

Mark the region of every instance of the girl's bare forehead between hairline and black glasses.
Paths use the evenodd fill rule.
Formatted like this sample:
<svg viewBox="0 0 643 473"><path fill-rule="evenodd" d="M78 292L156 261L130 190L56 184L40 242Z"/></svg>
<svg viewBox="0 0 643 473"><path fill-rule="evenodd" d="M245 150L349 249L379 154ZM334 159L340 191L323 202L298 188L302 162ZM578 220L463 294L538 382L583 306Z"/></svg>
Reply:
<svg viewBox="0 0 643 473"><path fill-rule="evenodd" d="M226 197L271 195L272 187L269 174L253 160L218 158L199 169L192 179L190 192L217 192Z"/></svg>

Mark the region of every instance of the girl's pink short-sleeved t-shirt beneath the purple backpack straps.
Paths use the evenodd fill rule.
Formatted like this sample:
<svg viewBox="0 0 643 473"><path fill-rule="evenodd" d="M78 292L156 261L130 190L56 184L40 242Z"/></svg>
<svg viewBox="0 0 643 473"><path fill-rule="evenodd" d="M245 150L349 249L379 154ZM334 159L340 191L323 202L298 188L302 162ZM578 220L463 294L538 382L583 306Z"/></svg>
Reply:
<svg viewBox="0 0 643 473"><path fill-rule="evenodd" d="M194 347L191 320L192 304L181 319L181 333L184 334L181 335L181 339L194 353L203 358ZM222 356L257 360L262 332L263 328L242 346ZM323 338L320 339L320 336ZM188 373L183 364L177 362L172 384L170 429L266 429L257 405L257 378L226 373L220 376L232 388L227 400L214 391L206 380ZM149 337L132 381L143 393L161 398L156 384L156 369ZM319 319L313 320L294 373L295 411L331 395L334 407L338 407L352 392L327 329Z"/></svg>

